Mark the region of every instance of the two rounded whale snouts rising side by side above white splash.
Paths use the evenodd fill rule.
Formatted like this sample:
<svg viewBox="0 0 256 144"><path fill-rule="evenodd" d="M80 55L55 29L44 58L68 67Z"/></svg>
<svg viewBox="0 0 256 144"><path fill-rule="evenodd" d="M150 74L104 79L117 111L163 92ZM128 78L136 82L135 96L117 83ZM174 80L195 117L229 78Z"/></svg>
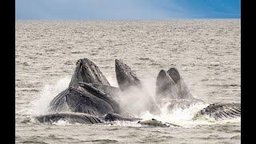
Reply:
<svg viewBox="0 0 256 144"><path fill-rule="evenodd" d="M186 108L195 102L203 102L190 94L190 90L176 68L159 71L155 91L158 104L170 102L169 109L174 106Z"/></svg>

